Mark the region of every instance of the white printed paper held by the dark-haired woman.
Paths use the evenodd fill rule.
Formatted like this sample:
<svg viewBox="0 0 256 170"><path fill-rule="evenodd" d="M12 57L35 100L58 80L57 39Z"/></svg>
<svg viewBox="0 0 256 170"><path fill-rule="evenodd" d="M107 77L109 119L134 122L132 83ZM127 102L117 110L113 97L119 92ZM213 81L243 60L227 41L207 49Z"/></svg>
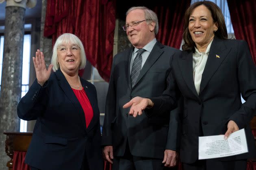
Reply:
<svg viewBox="0 0 256 170"><path fill-rule="evenodd" d="M199 137L198 159L226 157L248 152L245 130L238 130L224 139L224 135Z"/></svg>

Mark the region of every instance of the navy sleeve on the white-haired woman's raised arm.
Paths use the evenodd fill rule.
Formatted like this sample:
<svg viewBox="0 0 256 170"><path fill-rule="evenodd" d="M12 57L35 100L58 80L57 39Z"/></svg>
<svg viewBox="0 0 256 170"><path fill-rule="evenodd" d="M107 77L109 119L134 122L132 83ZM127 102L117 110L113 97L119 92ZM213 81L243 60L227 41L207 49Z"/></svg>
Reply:
<svg viewBox="0 0 256 170"><path fill-rule="evenodd" d="M46 108L46 88L48 81L41 87L37 80L29 88L25 96L20 100L17 106L17 114L20 119L30 121L36 120L43 115Z"/></svg>

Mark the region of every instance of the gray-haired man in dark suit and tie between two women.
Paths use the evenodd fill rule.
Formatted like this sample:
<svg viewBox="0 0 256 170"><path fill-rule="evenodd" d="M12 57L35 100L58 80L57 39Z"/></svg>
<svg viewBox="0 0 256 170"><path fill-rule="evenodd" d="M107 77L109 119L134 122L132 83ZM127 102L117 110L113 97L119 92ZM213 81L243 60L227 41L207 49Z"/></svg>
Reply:
<svg viewBox="0 0 256 170"><path fill-rule="evenodd" d="M135 96L160 96L167 87L169 61L181 51L156 40L157 16L144 6L128 9L123 28L133 47L113 60L102 131L104 157L113 170L169 169L176 165L178 110L146 108L145 114L132 117L123 105Z"/></svg>

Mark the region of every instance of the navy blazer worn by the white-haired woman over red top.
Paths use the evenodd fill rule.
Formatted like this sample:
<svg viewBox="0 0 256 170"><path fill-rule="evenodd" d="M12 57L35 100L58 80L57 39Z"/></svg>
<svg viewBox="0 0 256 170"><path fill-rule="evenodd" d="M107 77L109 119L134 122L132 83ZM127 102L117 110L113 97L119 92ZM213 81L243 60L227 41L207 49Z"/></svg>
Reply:
<svg viewBox="0 0 256 170"><path fill-rule="evenodd" d="M93 108L88 128L82 106L60 69L43 87L35 80L20 100L18 116L37 120L26 164L40 170L80 170L86 154L91 170L103 169L96 89L88 81L80 81Z"/></svg>

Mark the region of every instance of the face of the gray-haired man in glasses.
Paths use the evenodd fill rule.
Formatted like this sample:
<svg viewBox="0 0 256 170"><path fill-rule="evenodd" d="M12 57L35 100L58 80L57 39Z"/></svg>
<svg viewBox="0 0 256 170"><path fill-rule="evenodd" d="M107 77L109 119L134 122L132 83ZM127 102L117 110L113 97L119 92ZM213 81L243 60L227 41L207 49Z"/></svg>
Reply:
<svg viewBox="0 0 256 170"><path fill-rule="evenodd" d="M145 20L145 14L142 9L132 10L126 16L126 25L130 25L126 30L126 34L130 43L132 43L132 45L138 49L143 48L155 38L155 23L150 21L150 23L147 24L147 21L143 20ZM131 27L132 23L139 21L143 22L139 23L137 26Z"/></svg>

